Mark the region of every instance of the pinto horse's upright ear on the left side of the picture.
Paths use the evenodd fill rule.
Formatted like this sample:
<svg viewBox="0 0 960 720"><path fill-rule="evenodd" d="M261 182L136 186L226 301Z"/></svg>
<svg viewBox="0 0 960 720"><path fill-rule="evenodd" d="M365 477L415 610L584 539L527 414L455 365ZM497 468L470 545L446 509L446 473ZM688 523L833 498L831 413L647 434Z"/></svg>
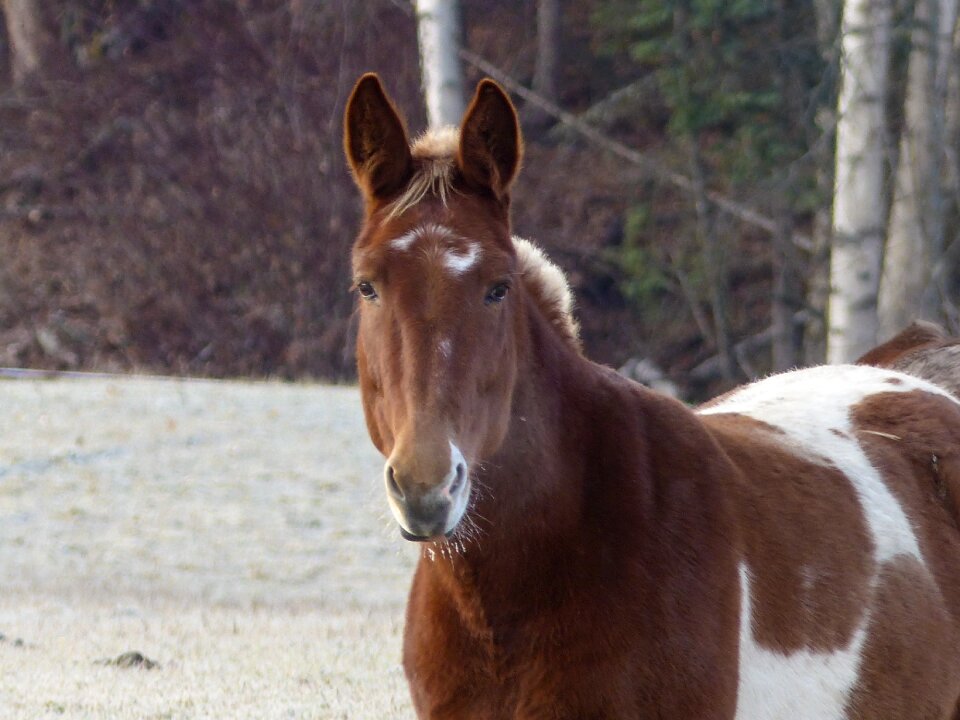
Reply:
<svg viewBox="0 0 960 720"><path fill-rule="evenodd" d="M410 179L413 160L407 131L375 73L361 77L350 94L343 147L368 203L390 198Z"/></svg>

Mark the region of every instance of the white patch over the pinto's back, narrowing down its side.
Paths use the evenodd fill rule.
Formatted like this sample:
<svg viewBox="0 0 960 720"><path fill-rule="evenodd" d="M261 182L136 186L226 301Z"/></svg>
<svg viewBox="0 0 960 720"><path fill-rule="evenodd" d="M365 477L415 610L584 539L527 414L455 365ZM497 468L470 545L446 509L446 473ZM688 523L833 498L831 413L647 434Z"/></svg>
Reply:
<svg viewBox="0 0 960 720"><path fill-rule="evenodd" d="M899 380L892 384L893 378ZM950 397L941 388L892 370L828 365L774 375L735 391L702 415L736 413L782 430L813 462L836 467L853 485L876 548L879 565L897 555L923 557L899 501L857 442L851 409L878 393L923 390Z"/></svg>

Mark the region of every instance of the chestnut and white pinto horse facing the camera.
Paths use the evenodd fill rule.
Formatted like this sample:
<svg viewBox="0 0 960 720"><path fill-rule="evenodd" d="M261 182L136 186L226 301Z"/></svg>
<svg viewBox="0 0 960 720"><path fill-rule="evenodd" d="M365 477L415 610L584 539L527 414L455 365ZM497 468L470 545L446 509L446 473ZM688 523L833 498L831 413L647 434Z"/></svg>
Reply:
<svg viewBox="0 0 960 720"><path fill-rule="evenodd" d="M563 275L510 235L489 80L411 146L366 75L345 146L363 407L424 543L419 717L960 717L952 397L850 365L695 412L584 358Z"/></svg>

